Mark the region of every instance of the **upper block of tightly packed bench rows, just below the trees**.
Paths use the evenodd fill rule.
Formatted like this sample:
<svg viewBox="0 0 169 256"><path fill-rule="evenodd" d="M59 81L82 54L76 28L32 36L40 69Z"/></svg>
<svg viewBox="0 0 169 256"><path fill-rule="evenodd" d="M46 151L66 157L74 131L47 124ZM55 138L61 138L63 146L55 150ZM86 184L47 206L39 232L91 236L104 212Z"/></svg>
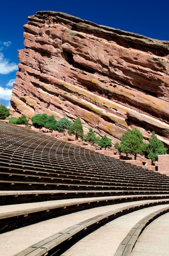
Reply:
<svg viewBox="0 0 169 256"><path fill-rule="evenodd" d="M122 183L124 189L129 190L169 188L169 177L160 173L144 171L143 168L11 124L1 124L0 131L4 128L7 136L2 138L0 145L1 189L6 186L5 181L7 189L13 189L13 184L15 189L24 189L24 184L21 188L22 183L18 182L25 182L26 189L30 189L26 184L37 184L39 189L44 186L56 189L55 184L59 189L65 189L69 184L71 189L113 190L122 189ZM82 160L84 155L85 161ZM52 174L54 172L57 176ZM31 189L32 185L29 185Z"/></svg>

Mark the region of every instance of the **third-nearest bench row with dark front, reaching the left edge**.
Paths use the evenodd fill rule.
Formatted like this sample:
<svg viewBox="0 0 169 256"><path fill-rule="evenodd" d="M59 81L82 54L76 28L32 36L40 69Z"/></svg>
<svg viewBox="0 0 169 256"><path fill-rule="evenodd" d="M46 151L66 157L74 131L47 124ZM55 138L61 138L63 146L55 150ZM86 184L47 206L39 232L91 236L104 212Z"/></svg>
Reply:
<svg viewBox="0 0 169 256"><path fill-rule="evenodd" d="M18 205L18 211L0 213L0 233L11 231L23 227L24 225L31 225L36 222L48 220L50 218L56 218L75 211L139 200L151 200L154 205L159 203L167 204L169 203L169 195L126 195L101 198L79 198L79 200L75 200L75 202L73 200L66 200L66 202L61 203L58 200L53 201L52 205L47 206L43 206L42 203L40 207L36 207L36 203L34 203L33 208L30 208L29 206L29 209L27 209L28 207L26 205L23 205L22 207L24 207L24 210L19 210L20 208ZM1 211L3 209L5 209L5 206L1 207Z"/></svg>

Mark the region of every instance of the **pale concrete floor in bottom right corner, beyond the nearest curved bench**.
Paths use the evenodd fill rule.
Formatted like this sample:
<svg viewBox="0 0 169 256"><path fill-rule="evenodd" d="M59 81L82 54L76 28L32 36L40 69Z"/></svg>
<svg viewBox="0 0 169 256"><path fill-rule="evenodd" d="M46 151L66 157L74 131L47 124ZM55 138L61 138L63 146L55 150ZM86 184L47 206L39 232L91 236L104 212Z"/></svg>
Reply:
<svg viewBox="0 0 169 256"><path fill-rule="evenodd" d="M146 227L140 235L131 256L169 255L169 213L166 213Z"/></svg>

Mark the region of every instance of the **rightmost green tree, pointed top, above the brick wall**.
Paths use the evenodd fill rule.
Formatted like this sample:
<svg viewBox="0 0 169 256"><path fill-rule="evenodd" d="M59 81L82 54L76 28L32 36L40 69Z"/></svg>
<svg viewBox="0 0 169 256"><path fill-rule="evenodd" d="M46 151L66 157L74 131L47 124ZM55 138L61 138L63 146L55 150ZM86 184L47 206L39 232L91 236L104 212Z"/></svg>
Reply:
<svg viewBox="0 0 169 256"><path fill-rule="evenodd" d="M149 138L149 143L146 144L145 148L145 156L148 159L151 159L151 162L158 160L158 155L165 155L167 153L167 148L165 148L164 144L160 139L157 138L155 132L153 131L151 134L151 138Z"/></svg>

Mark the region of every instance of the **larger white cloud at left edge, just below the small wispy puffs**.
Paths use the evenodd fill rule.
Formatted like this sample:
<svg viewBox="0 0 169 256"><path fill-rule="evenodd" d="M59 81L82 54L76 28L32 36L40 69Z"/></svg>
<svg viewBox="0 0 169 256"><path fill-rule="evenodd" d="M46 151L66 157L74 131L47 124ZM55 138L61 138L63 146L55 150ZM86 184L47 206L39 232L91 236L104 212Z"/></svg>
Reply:
<svg viewBox="0 0 169 256"><path fill-rule="evenodd" d="M0 74L9 74L18 70L18 65L14 62L9 63L9 60L4 58L4 55L0 53Z"/></svg>

